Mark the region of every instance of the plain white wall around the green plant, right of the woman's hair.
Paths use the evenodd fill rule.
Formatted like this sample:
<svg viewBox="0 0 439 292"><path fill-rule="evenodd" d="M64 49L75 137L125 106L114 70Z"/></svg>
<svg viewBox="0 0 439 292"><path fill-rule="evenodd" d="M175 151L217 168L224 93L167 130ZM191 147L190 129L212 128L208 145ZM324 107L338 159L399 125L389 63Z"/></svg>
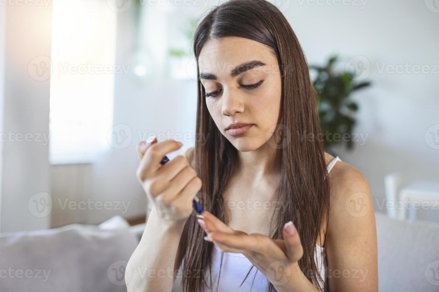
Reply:
<svg viewBox="0 0 439 292"><path fill-rule="evenodd" d="M424 137L439 124L439 10L434 13L425 1L409 0L369 1L364 9L291 4L285 15L309 63L323 63L338 52L342 67L355 56L365 56L371 64L371 88L355 94L360 112L354 132L368 137L351 152L338 149L342 160L363 172L378 200L385 197L383 178L389 172L399 171L407 180L439 180L439 150ZM379 73L377 63L379 68L433 65L435 73ZM439 212L421 210L418 218L439 222Z"/></svg>

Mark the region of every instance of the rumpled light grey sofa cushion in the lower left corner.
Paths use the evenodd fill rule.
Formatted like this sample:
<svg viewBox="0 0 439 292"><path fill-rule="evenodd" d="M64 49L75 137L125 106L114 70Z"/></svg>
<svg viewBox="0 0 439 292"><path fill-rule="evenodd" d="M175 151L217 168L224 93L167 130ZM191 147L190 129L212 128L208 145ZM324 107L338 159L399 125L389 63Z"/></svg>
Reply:
<svg viewBox="0 0 439 292"><path fill-rule="evenodd" d="M118 216L96 225L0 234L1 291L126 291L138 244Z"/></svg>

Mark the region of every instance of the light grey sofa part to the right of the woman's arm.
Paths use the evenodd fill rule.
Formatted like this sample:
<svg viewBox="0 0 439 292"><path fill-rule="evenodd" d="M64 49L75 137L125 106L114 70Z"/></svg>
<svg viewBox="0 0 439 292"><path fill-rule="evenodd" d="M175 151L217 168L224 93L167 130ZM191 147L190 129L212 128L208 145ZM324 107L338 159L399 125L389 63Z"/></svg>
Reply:
<svg viewBox="0 0 439 292"><path fill-rule="evenodd" d="M375 219L379 291L439 291L439 224Z"/></svg>

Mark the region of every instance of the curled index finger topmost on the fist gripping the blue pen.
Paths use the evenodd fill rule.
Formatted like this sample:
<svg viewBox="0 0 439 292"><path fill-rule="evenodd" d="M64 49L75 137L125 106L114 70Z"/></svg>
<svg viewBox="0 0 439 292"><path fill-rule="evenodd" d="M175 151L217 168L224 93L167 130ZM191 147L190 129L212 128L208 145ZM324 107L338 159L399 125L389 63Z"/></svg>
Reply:
<svg viewBox="0 0 439 292"><path fill-rule="evenodd" d="M165 140L152 144L146 149L142 160L139 165L139 177L146 178L147 173L155 172L162 167L160 161L166 154L180 149L182 144L174 140Z"/></svg>

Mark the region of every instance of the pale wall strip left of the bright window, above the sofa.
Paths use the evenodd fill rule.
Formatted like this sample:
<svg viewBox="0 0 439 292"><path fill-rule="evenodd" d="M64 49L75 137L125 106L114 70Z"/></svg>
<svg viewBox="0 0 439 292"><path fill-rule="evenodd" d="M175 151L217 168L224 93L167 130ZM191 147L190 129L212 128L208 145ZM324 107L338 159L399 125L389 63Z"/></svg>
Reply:
<svg viewBox="0 0 439 292"><path fill-rule="evenodd" d="M48 145L37 137L49 132L50 80L39 81L32 69L33 63L40 64L35 58L50 56L51 6L0 9L6 9L0 133L14 134L12 138L2 136L6 141L2 141L1 232L44 229L49 227L50 217L32 215L28 202L36 193L50 192ZM29 142L22 140L26 134Z"/></svg>

